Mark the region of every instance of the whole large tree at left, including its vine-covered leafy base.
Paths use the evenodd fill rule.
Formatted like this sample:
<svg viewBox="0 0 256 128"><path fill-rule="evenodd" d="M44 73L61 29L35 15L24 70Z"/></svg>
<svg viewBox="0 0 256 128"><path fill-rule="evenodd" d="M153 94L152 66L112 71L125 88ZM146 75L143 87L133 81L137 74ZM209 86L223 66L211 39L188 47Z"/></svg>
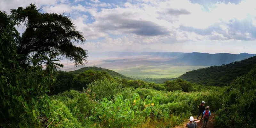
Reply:
<svg viewBox="0 0 256 128"><path fill-rule="evenodd" d="M34 4L0 11L0 127L48 127L54 113L47 92L60 57L84 65L85 41L68 16L41 13ZM24 26L21 35L16 25ZM43 66L46 67L43 70ZM55 122L56 123L56 122Z"/></svg>

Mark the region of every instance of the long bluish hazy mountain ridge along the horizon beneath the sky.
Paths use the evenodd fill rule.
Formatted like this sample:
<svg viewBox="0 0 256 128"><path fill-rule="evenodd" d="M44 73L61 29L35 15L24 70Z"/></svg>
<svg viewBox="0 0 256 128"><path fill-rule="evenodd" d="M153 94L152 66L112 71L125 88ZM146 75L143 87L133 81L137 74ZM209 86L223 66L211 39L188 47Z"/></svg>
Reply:
<svg viewBox="0 0 256 128"><path fill-rule="evenodd" d="M190 65L190 66L220 66L222 64L229 64L235 61L241 61L256 54L240 53L240 54L230 54L230 53L184 53L184 52L95 52L90 58L97 57L112 57L114 59L105 60L105 62L122 62L129 59L118 59L119 57L134 57L133 62L138 63L152 63L152 64L172 64L174 66L178 65ZM136 57L143 57L144 60L136 60ZM116 58L115 58L116 57ZM148 59L146 59L148 57ZM150 58L163 58L162 60L151 60ZM131 59L131 58L130 58ZM136 61L136 62L135 62ZM130 62L132 64L132 62Z"/></svg>

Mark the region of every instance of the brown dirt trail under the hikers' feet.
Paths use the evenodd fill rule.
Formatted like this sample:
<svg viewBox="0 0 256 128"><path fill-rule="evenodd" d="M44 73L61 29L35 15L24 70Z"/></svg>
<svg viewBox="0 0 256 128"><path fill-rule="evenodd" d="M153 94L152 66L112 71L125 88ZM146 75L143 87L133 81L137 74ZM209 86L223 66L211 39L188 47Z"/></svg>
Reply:
<svg viewBox="0 0 256 128"><path fill-rule="evenodd" d="M193 116L194 119L196 119L197 115L196 116ZM200 116L201 117L201 116ZM199 117L199 118L200 118ZM211 117L210 119L208 120L208 123L207 123L207 127L206 128L214 128L214 117L215 117L215 113L211 113ZM181 126L176 126L174 128L185 128L186 124L189 122L189 119L186 120ZM203 123L204 123L204 120L200 120L199 123L197 123L197 128L202 128L203 127Z"/></svg>

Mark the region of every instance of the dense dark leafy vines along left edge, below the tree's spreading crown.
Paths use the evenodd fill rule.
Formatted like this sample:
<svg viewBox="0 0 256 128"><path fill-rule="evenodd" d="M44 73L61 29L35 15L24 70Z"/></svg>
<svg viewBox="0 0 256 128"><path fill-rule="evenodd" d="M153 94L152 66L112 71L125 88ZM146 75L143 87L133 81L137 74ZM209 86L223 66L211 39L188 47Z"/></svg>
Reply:
<svg viewBox="0 0 256 128"><path fill-rule="evenodd" d="M4 12L0 12L4 14ZM5 15L7 17L7 15ZM3 27L3 26L1 26ZM37 121L40 114L37 105L48 104L47 87L52 83L52 67L47 66L43 72L42 66L34 60L33 66L22 68L17 61L20 55L16 53L14 22L4 26L0 34L0 126L31 127L42 122ZM49 113L48 113L49 114Z"/></svg>

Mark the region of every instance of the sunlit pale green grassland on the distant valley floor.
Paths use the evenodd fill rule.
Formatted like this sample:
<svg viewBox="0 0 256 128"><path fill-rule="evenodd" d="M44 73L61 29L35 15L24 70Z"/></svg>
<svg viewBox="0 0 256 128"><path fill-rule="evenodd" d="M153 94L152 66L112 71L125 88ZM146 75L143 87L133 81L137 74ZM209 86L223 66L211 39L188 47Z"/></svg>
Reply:
<svg viewBox="0 0 256 128"><path fill-rule="evenodd" d="M176 78L182 74L196 70L199 68L205 68L205 66L170 66L170 65L156 65L156 66L136 66L129 68L116 68L111 69L124 76L145 79L145 78Z"/></svg>

